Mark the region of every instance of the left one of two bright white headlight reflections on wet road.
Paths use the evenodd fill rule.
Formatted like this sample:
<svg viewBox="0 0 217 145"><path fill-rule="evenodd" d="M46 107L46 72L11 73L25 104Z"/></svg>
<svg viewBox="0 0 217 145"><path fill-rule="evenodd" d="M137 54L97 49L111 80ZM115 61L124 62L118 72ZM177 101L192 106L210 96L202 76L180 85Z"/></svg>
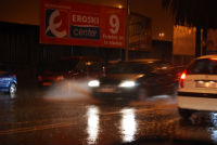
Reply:
<svg viewBox="0 0 217 145"><path fill-rule="evenodd" d="M87 110L88 116L88 144L95 144L99 134L99 108L97 106L89 106Z"/></svg>

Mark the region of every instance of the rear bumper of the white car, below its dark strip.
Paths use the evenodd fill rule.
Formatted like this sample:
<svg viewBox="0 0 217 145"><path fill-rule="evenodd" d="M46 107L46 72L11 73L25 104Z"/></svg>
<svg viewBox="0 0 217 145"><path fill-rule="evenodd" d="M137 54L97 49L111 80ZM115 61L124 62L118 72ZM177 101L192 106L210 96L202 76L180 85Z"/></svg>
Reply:
<svg viewBox="0 0 217 145"><path fill-rule="evenodd" d="M177 100L179 108L217 111L217 94L178 92Z"/></svg>

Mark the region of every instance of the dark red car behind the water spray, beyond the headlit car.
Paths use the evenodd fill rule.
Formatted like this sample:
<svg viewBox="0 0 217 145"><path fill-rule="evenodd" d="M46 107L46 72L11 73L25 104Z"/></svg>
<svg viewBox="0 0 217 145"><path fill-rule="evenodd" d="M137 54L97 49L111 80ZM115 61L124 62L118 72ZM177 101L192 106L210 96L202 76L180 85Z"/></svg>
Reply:
<svg viewBox="0 0 217 145"><path fill-rule="evenodd" d="M40 65L39 85L52 85L67 79L99 77L104 71L103 60L94 56L64 57Z"/></svg>

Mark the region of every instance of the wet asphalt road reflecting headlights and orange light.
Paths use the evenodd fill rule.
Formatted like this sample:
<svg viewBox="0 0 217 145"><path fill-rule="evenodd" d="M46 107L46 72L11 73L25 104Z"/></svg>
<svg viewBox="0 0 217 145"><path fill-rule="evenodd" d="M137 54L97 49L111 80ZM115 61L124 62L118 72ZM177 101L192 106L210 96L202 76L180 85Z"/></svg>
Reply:
<svg viewBox="0 0 217 145"><path fill-rule="evenodd" d="M0 144L217 143L216 114L195 114L183 121L175 96L107 104L93 100L88 90L76 91L24 89L16 96L0 94Z"/></svg>

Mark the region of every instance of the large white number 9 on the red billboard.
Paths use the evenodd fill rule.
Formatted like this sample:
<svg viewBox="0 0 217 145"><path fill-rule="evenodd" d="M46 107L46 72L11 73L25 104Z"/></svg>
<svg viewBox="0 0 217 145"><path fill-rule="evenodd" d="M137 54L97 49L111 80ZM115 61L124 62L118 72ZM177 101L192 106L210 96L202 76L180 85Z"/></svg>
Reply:
<svg viewBox="0 0 217 145"><path fill-rule="evenodd" d="M117 17L117 15L113 14L110 16L110 26L112 28L110 28L110 31L115 35L118 32L119 30L119 18Z"/></svg>

